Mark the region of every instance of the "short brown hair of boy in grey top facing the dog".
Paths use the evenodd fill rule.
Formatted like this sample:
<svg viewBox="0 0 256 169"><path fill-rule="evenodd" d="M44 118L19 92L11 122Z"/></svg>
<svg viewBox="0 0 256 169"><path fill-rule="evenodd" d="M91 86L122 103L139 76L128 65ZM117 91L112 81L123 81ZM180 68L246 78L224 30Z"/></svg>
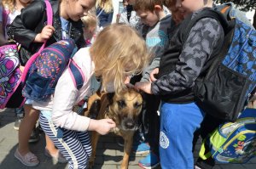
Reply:
<svg viewBox="0 0 256 169"><path fill-rule="evenodd" d="M160 5L161 8L163 8L163 1L164 0L136 0L133 4L133 9L135 11L137 10L143 10L143 11L150 11L154 12L154 6Z"/></svg>

